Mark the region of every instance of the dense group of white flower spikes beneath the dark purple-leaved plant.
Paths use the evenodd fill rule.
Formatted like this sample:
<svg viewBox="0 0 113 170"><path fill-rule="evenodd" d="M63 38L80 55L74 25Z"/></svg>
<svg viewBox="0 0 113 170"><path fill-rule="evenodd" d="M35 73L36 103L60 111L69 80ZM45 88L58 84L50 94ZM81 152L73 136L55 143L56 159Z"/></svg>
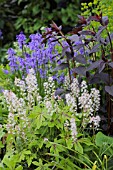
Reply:
<svg viewBox="0 0 113 170"><path fill-rule="evenodd" d="M76 112L76 115L80 115L77 110L81 109L83 115L82 125L85 127L89 123L89 117L99 110L99 90L92 88L89 93L86 82L83 80L81 86L79 86L77 78L73 79L70 88L71 92L65 95L66 103L70 106L70 111Z"/></svg>

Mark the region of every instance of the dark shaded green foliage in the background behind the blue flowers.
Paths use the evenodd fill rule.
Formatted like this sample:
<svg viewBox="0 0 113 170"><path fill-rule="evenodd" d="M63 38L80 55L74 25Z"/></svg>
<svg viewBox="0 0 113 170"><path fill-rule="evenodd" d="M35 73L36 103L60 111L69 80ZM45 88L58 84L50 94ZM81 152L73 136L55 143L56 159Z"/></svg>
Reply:
<svg viewBox="0 0 113 170"><path fill-rule="evenodd" d="M54 20L63 25L67 33L77 23L81 2L91 0L0 0L0 62L6 63L4 54L20 31L27 35L49 26Z"/></svg>

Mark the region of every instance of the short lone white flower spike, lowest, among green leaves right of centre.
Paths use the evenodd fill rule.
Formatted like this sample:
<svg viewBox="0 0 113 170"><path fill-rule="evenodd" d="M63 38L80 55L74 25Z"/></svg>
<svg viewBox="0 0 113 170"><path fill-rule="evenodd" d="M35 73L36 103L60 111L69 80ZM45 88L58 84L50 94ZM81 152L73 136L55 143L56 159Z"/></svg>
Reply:
<svg viewBox="0 0 113 170"><path fill-rule="evenodd" d="M70 125L71 125L71 136L73 141L75 142L77 140L77 127L76 127L76 123L75 123L75 119L71 118L70 119Z"/></svg>

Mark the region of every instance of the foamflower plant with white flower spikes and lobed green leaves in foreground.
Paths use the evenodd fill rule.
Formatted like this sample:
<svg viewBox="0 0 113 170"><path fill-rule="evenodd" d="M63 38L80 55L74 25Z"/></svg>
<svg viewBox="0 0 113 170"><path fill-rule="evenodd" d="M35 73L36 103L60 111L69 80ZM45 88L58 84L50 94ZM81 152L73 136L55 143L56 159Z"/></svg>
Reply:
<svg viewBox="0 0 113 170"><path fill-rule="evenodd" d="M67 97L66 104L60 96L55 96L52 77L44 83L44 98L40 97L35 80L36 74L30 69L24 81L15 78L16 94L11 90L3 91L9 114L4 129L1 127L2 136L4 130L6 132L6 154L0 163L1 169L107 169L113 155L112 138L99 132L92 139L87 131L97 130L99 126L99 116L93 116L99 109L99 91L92 88L89 93L86 82L80 85L76 78L71 85L67 83L71 90L66 96L74 100L75 109ZM82 94L88 96L84 98L85 105L80 103ZM106 146L104 142L101 146L100 140L108 140Z"/></svg>

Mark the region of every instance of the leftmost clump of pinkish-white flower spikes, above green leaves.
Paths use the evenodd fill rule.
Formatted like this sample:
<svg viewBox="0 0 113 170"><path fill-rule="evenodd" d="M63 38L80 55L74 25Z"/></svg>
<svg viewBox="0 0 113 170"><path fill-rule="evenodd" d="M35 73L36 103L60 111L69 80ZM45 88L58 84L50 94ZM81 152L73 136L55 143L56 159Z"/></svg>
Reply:
<svg viewBox="0 0 113 170"><path fill-rule="evenodd" d="M24 129L29 123L26 115L25 101L23 98L17 98L12 91L5 90L3 94L9 110L6 129L8 133L21 134L23 136ZM18 123L18 120L21 123Z"/></svg>

